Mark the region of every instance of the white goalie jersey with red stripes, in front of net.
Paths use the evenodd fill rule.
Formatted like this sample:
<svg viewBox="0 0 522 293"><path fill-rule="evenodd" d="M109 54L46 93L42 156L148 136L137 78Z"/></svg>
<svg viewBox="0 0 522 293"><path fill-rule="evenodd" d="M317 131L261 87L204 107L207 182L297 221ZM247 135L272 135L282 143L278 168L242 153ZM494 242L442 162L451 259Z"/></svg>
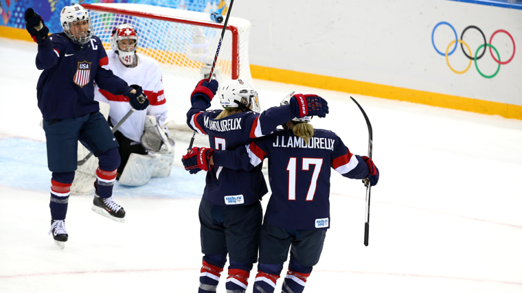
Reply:
<svg viewBox="0 0 522 293"><path fill-rule="evenodd" d="M149 99L150 105L146 110L135 111L131 117L120 126L118 131L122 132L125 137L136 142L140 142L141 135L144 133L144 124L147 115L156 117L160 126L165 124L167 119L167 104L165 93L163 93L163 81L161 76L161 68L157 61L148 56L136 54L138 64L136 67L125 67L117 54L113 50L107 51L109 57L109 69L113 73L127 82L127 84L137 84ZM95 86L94 98L100 102L108 103L111 108L109 117L111 124L114 126L122 119L129 110L131 104L123 95L113 95L107 91Z"/></svg>

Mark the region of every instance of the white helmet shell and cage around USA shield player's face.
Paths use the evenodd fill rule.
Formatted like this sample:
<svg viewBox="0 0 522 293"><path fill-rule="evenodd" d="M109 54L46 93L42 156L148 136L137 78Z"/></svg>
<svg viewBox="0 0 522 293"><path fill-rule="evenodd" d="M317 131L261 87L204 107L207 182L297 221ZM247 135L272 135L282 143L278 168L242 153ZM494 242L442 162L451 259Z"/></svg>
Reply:
<svg viewBox="0 0 522 293"><path fill-rule="evenodd" d="M87 21L89 23L89 29L84 36L75 36L71 34L71 23L76 21ZM71 6L65 6L60 12L60 23L62 23L63 32L74 42L80 45L84 45L93 36L93 23L89 12L82 7L80 4L74 4Z"/></svg>

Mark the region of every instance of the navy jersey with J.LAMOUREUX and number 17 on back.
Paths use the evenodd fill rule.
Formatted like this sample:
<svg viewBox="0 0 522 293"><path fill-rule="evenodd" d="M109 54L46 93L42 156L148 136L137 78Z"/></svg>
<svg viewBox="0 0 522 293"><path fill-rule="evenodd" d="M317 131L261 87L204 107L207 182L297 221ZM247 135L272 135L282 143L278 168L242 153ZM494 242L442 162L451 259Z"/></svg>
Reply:
<svg viewBox="0 0 522 293"><path fill-rule="evenodd" d="M345 177L366 178L369 167L341 138L316 129L305 144L292 130L276 130L234 152L215 152L214 164L249 169L269 158L272 190L264 222L288 229L330 227L330 168Z"/></svg>

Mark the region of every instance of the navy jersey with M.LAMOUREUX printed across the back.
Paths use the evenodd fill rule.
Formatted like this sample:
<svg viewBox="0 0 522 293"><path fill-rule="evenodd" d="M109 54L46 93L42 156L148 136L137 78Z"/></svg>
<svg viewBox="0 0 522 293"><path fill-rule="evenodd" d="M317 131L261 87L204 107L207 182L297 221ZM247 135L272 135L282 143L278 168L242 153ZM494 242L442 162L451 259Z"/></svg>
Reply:
<svg viewBox="0 0 522 293"><path fill-rule="evenodd" d="M234 150L256 137L270 134L293 119L290 106L269 108L262 113L246 111L216 119L222 110L205 111L207 102L196 98L187 113L187 124L199 134L207 134L214 150ZM205 179L203 198L220 206L249 205L261 199L268 189L261 172L262 164L249 171L214 167Z"/></svg>

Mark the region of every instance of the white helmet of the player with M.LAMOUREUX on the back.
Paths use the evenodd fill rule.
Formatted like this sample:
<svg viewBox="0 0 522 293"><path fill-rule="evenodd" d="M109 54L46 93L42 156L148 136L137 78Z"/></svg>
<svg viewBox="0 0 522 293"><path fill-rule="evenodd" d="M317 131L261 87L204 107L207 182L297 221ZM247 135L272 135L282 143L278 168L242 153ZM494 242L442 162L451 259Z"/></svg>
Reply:
<svg viewBox="0 0 522 293"><path fill-rule="evenodd" d="M259 113L258 92L243 80L227 80L219 89L219 99L223 108L242 108Z"/></svg>

